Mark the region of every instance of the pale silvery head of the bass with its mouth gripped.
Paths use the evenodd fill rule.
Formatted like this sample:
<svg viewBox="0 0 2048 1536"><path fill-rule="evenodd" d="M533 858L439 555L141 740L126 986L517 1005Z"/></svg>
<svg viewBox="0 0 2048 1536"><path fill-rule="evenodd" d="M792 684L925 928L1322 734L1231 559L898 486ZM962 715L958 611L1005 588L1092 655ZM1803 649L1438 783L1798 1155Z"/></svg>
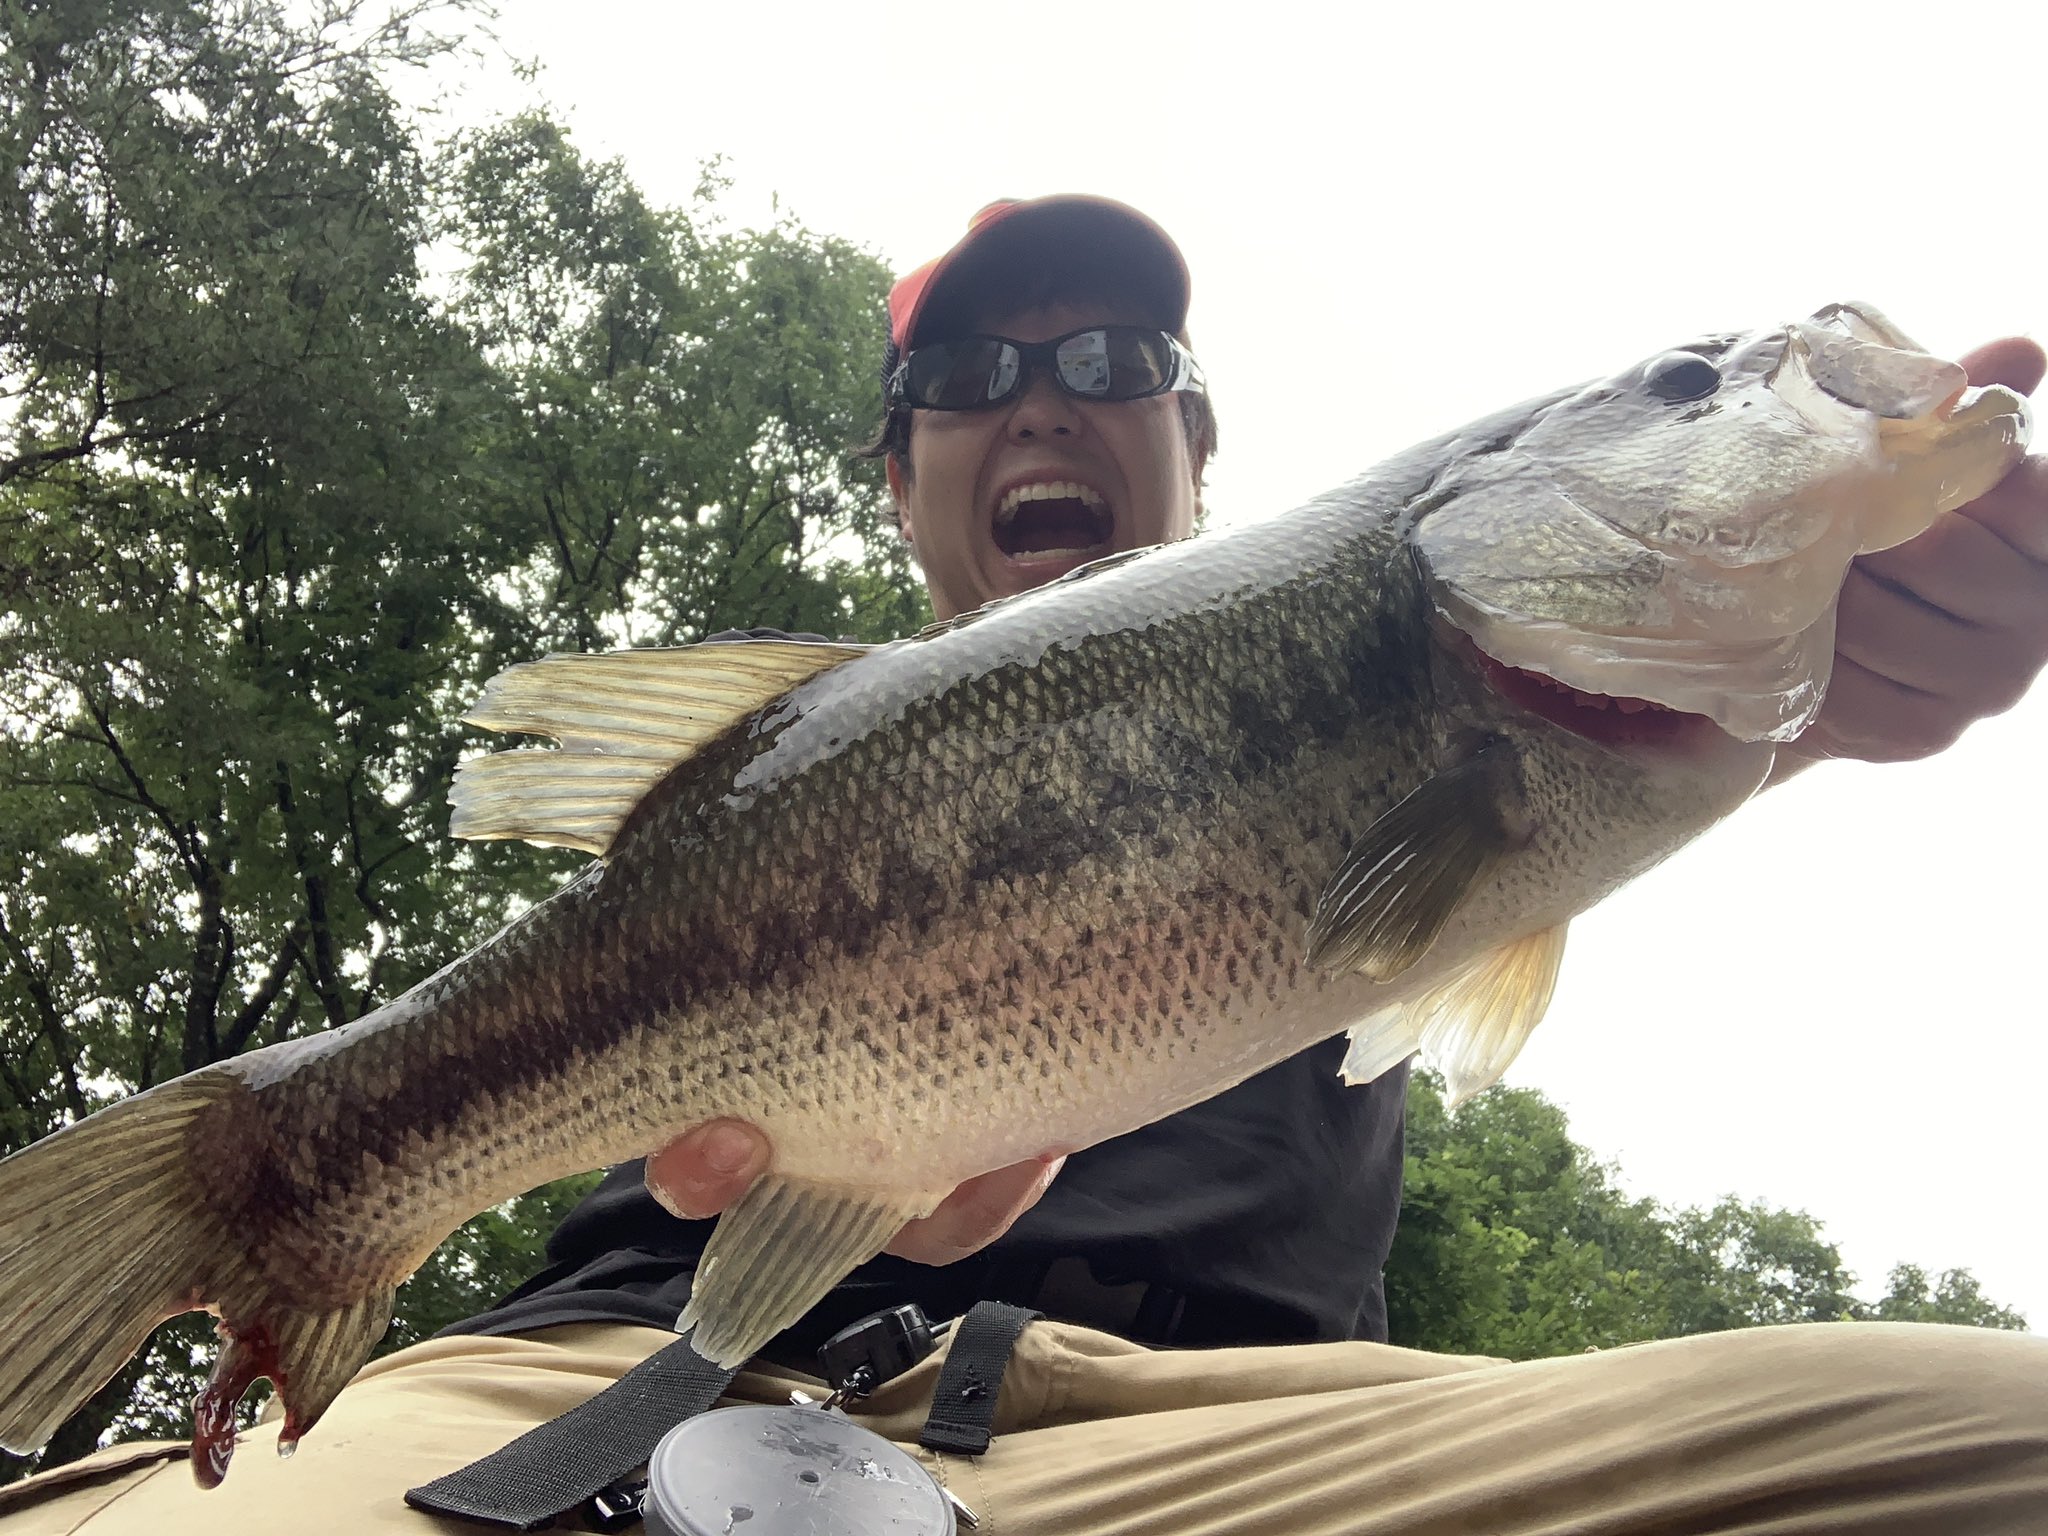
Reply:
<svg viewBox="0 0 2048 1536"><path fill-rule="evenodd" d="M1991 489L2028 406L1868 305L1710 336L1538 401L1415 508L1440 614L1499 668L1786 741L1849 561Z"/></svg>

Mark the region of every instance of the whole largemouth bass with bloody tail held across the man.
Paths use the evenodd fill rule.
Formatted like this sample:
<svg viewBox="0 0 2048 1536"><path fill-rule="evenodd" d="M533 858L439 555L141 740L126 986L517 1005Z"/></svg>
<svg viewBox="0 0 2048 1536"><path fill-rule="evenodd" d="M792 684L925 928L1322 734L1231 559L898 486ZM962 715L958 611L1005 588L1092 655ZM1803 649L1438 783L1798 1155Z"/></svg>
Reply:
<svg viewBox="0 0 2048 1536"><path fill-rule="evenodd" d="M774 1141L680 1319L735 1364L963 1180L1333 1034L1479 1092L1567 922L1812 719L1849 559L2025 428L1831 307L907 641L514 668L471 719L561 750L467 764L455 831L596 860L367 1018L0 1163L0 1442L209 1309L219 1481L244 1389L293 1446L461 1221L713 1116Z"/></svg>

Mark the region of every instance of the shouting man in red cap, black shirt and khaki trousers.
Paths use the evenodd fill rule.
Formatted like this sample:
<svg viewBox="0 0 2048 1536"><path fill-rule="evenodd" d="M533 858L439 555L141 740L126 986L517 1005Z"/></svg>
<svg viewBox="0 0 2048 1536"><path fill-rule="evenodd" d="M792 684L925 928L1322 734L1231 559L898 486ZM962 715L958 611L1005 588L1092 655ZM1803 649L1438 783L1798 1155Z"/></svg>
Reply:
<svg viewBox="0 0 2048 1536"><path fill-rule="evenodd" d="M874 451L940 618L1192 532L1214 420L1186 309L1171 240L1098 199L993 205L897 285ZM1841 332L1845 346L1866 334L1882 332ZM1817 377L1829 358L1860 367L1833 344L1815 332ZM1718 362L1737 377L1735 352ZM1718 381L1702 356L1669 354L1647 387L1686 403L1712 387L1702 367ZM1974 385L2030 391L2044 358L2005 340L1964 367ZM1905 385L1886 375L1882 389ZM2028 459L1853 563L1827 702L1769 772L1937 752L2015 702L2044 659L2048 463ZM1624 690L1573 678L1556 692L1569 698L1532 707L1599 711ZM2038 1337L1825 1325L1528 1364L1386 1346L1397 1063L1411 1051L1399 1032L1350 1053L1327 1040L1141 1130L1042 1145L961 1184L782 1329L735 1395L786 1397L809 1350L868 1311L918 1300L946 1317L1001 1298L1063 1321L1022 1335L993 1450L928 1456L999 1532L2048 1528ZM1499 1065L1495 1051L1466 1085ZM500 1309L369 1366L289 1466L244 1456L201 1497L160 1454L102 1452L102 1475L0 1503L0 1532L436 1528L401 1491L672 1341L709 1231L670 1212L715 1217L778 1167L750 1122L702 1124L645 1167L614 1167L555 1235L551 1268ZM938 1368L862 1403L870 1427L911 1440Z"/></svg>

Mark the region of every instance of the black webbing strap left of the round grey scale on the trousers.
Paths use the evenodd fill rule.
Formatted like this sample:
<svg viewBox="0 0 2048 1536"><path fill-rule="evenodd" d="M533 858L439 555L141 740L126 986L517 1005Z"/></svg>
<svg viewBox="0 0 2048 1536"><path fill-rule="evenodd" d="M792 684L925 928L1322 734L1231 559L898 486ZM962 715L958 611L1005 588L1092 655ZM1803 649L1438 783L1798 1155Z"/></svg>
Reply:
<svg viewBox="0 0 2048 1536"><path fill-rule="evenodd" d="M717 1403L737 1374L705 1360L688 1339L676 1339L510 1446L408 1489L406 1503L436 1516L539 1530L643 1466L662 1436Z"/></svg>

